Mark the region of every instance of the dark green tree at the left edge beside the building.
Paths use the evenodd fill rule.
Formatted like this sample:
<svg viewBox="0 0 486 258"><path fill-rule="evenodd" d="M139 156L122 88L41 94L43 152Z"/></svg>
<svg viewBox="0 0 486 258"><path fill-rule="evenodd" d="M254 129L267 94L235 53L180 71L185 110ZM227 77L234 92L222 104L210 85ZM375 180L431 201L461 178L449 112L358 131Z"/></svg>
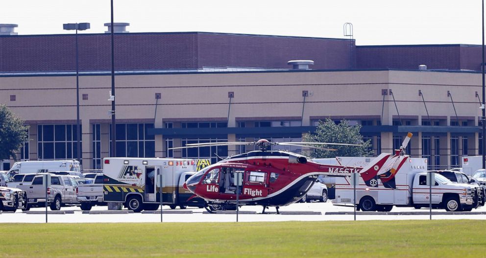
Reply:
<svg viewBox="0 0 486 258"><path fill-rule="evenodd" d="M16 160L15 152L28 140L28 126L6 104L0 104L0 159Z"/></svg>

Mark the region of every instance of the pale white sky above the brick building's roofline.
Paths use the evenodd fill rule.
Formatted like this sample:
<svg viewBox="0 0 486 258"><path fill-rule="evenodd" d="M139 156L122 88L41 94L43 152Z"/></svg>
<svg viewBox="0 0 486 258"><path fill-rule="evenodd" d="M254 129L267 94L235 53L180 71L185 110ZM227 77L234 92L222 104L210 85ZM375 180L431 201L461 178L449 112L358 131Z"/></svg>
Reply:
<svg viewBox="0 0 486 258"><path fill-rule="evenodd" d="M114 0L129 32L204 31L323 38L353 24L356 45L482 44L480 0ZM19 35L103 33L110 0L2 0L0 23Z"/></svg>

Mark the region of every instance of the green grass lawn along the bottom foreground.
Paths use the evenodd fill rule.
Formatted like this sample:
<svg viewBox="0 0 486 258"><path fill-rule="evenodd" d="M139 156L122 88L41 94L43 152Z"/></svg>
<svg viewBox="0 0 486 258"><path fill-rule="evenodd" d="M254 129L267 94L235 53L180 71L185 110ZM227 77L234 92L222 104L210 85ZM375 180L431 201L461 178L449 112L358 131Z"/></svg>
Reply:
<svg viewBox="0 0 486 258"><path fill-rule="evenodd" d="M0 224L0 257L486 257L486 221Z"/></svg>

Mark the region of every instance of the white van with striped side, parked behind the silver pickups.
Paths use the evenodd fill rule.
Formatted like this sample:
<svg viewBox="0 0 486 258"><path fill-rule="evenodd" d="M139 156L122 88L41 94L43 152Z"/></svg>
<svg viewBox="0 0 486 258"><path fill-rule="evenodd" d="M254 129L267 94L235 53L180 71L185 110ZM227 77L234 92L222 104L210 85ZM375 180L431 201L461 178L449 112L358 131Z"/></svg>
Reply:
<svg viewBox="0 0 486 258"><path fill-rule="evenodd" d="M75 171L81 172L81 166L75 160L62 161L21 161L16 162L8 170L7 176L12 178L16 174L43 173L49 171Z"/></svg>

